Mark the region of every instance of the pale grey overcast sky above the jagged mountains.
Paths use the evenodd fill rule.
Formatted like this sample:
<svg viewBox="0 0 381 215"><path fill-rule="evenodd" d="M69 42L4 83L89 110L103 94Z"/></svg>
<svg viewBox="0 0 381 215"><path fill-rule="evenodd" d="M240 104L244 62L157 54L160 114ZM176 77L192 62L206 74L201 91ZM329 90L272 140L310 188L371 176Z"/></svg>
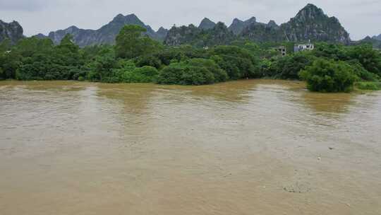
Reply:
<svg viewBox="0 0 381 215"><path fill-rule="evenodd" d="M280 24L308 3L339 18L352 40L381 33L381 0L0 0L0 19L18 21L28 36L71 25L97 29L118 13L135 13L155 30L174 24L198 25L204 17L226 25L233 18L245 20L252 16L260 22L273 19Z"/></svg>

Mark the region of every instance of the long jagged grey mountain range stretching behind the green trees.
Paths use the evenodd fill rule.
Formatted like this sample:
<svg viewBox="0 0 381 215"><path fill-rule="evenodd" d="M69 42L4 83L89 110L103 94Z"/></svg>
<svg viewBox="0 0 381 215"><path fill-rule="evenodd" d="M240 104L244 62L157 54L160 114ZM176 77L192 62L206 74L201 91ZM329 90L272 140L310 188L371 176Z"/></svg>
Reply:
<svg viewBox="0 0 381 215"><path fill-rule="evenodd" d="M237 39L253 40L255 42L307 42L309 40L312 42L325 41L341 42L344 44L351 42L349 33L346 32L339 20L334 16L327 16L322 8L318 8L313 4L307 4L298 11L296 16L281 25L272 20L268 23L260 23L253 16L246 21L234 18L231 25L226 27L224 23L214 23L209 18L203 18L198 27L193 24L181 27L174 26L170 30L161 27L155 32L150 25L143 23L134 13L126 16L119 13L109 23L97 30L82 29L72 25L63 30L52 31L48 35L38 34L35 36L41 38L49 37L54 44L59 44L66 34L71 34L73 35L73 41L80 47L101 44L113 45L116 35L118 35L124 25L140 25L147 30L145 35L152 39L163 41L167 45L182 45L186 43L198 46L226 45ZM217 25L218 28L216 28ZM229 32L233 33L233 35ZM223 36L226 36L226 38L222 38ZM216 42L211 41L211 38L218 38L216 41L225 43L216 44ZM381 35L373 37L375 40L377 38L381 40ZM13 39L13 42L16 42L18 39L20 39L20 36Z"/></svg>

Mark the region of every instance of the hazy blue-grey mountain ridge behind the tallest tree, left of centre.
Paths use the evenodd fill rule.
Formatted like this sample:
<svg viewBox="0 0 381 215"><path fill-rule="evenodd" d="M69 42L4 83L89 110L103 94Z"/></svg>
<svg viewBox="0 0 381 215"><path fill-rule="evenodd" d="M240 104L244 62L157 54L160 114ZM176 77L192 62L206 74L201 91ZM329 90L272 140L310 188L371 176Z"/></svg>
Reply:
<svg viewBox="0 0 381 215"><path fill-rule="evenodd" d="M64 30L51 32L47 37L52 39L54 44L59 44L66 34L71 34L73 35L75 44L80 47L85 47L87 45L114 44L116 35L119 34L119 31L124 25L140 25L147 29L146 35L155 40L164 40L164 37L166 36L166 30L164 28L159 30L159 33L156 33L152 30L150 25L145 25L145 23L140 21L135 14L130 14L128 16L119 14L111 22L102 26L102 28L99 28L98 30L86 30L71 26ZM44 37L44 35L41 34L36 36Z"/></svg>

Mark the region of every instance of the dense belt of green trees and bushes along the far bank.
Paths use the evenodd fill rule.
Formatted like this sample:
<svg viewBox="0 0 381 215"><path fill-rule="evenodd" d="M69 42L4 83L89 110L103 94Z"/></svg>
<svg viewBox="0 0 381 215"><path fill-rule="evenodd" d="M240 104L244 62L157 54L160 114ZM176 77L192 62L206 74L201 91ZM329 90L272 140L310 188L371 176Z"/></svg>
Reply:
<svg viewBox="0 0 381 215"><path fill-rule="evenodd" d="M170 47L144 35L145 28L126 25L116 45L80 48L66 35L59 45L28 37L16 45L0 44L0 79L78 80L107 83L202 85L237 79L306 80L311 91L351 91L379 86L381 53L368 44L318 43L310 52L274 50L290 43L236 40L231 45ZM365 84L361 81L373 81Z"/></svg>

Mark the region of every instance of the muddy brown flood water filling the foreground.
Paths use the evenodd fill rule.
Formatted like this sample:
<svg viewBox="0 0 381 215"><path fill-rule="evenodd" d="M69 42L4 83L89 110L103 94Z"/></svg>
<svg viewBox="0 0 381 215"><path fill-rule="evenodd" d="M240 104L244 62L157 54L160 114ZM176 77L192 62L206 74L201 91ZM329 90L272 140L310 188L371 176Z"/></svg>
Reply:
<svg viewBox="0 0 381 215"><path fill-rule="evenodd" d="M381 92L2 81L0 214L381 214Z"/></svg>

